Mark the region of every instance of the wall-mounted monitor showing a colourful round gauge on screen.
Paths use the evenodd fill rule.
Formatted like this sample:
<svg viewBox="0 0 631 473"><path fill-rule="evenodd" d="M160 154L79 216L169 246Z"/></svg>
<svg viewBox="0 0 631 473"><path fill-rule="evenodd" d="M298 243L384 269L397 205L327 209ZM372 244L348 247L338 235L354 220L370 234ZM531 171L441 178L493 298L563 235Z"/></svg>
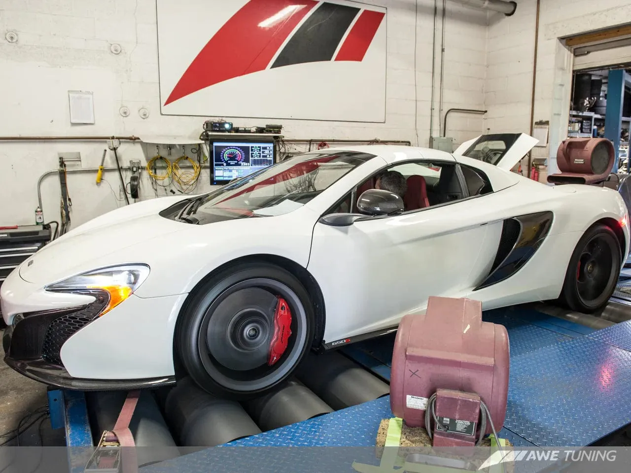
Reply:
<svg viewBox="0 0 631 473"><path fill-rule="evenodd" d="M274 141L213 141L212 183L223 185L274 164Z"/></svg>

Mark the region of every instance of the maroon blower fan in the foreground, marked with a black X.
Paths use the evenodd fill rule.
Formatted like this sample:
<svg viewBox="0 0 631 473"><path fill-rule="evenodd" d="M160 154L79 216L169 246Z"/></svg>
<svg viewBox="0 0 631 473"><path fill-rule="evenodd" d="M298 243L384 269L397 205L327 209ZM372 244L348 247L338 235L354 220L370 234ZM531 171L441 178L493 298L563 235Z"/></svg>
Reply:
<svg viewBox="0 0 631 473"><path fill-rule="evenodd" d="M482 322L480 301L432 296L425 315L401 320L392 353L392 413L427 429L435 447L480 445L490 433L497 438L508 383L508 333Z"/></svg>

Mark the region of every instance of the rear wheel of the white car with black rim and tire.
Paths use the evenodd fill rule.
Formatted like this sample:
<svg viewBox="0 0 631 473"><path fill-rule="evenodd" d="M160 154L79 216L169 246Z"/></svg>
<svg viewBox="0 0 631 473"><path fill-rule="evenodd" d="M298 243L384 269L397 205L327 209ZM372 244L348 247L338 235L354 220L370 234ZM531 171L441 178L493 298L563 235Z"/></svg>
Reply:
<svg viewBox="0 0 631 473"><path fill-rule="evenodd" d="M570 258L560 301L575 312L598 312L615 291L621 261L613 230L606 225L589 228Z"/></svg>

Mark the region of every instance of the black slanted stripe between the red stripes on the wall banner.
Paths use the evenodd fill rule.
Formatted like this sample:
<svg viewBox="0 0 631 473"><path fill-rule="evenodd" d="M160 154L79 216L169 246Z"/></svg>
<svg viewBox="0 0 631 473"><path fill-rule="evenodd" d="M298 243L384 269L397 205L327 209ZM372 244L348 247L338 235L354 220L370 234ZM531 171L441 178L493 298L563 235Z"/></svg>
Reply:
<svg viewBox="0 0 631 473"><path fill-rule="evenodd" d="M359 8L323 3L287 42L272 67L331 61Z"/></svg>

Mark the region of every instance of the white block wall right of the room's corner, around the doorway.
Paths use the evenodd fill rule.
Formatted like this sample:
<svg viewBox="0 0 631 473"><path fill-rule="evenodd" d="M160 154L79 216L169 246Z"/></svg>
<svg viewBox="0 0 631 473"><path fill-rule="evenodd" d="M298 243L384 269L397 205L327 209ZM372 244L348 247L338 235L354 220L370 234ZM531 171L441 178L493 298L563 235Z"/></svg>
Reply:
<svg viewBox="0 0 631 473"><path fill-rule="evenodd" d="M487 45L485 128L529 132L536 0L519 0L513 16L490 15ZM534 121L550 120L550 146L534 157L551 158L567 136L572 54L559 38L631 22L628 0L541 0ZM606 61L605 61L606 62Z"/></svg>

